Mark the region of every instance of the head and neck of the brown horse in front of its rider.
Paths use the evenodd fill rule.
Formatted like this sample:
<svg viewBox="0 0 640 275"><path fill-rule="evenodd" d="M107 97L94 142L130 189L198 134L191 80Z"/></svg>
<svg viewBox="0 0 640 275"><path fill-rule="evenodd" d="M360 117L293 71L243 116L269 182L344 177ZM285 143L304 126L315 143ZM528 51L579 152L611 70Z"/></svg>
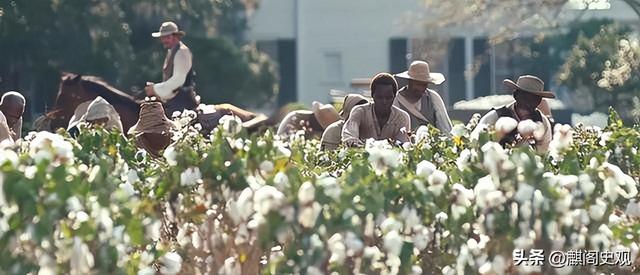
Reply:
<svg viewBox="0 0 640 275"><path fill-rule="evenodd" d="M140 101L98 77L63 73L54 107L36 120L36 129L54 131L58 128L67 128L78 105L98 96L104 98L116 109L125 132L138 120Z"/></svg>

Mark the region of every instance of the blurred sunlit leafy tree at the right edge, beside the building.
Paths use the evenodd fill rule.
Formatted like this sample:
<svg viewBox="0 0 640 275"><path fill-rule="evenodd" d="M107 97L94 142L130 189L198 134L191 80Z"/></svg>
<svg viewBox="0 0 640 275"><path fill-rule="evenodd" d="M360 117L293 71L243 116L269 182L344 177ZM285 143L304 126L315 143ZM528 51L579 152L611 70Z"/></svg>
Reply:
<svg viewBox="0 0 640 275"><path fill-rule="evenodd" d="M590 99L596 111L613 106L627 121L640 95L640 46L629 33L609 24L591 38L580 35L557 76L574 98Z"/></svg>

